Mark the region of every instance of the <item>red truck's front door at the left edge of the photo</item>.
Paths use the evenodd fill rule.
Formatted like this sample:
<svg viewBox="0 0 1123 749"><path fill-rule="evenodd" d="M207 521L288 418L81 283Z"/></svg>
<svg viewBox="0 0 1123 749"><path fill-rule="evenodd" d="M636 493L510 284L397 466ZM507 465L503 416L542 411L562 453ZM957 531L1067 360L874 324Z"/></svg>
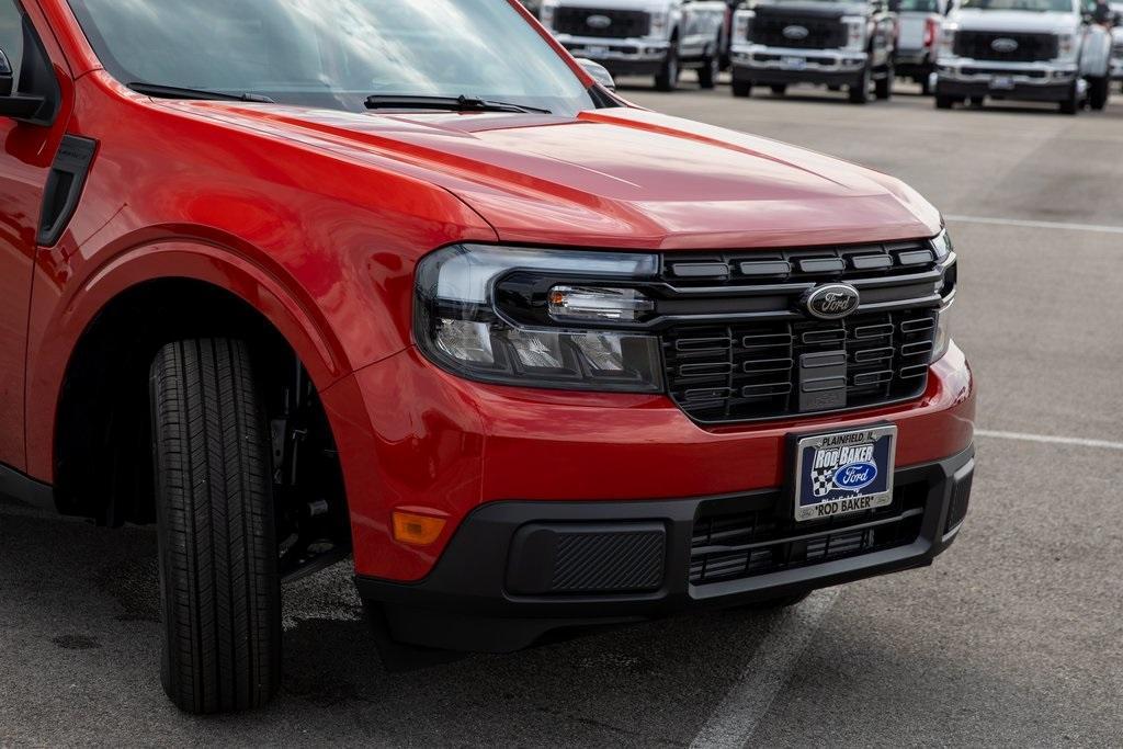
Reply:
<svg viewBox="0 0 1123 749"><path fill-rule="evenodd" d="M39 42L48 35L25 24L30 21L18 2L0 0L0 49L11 63L16 90L55 99L48 119L37 125L0 117L0 464L20 471L26 464L24 377L36 235L67 119L56 77L63 68L52 63Z"/></svg>

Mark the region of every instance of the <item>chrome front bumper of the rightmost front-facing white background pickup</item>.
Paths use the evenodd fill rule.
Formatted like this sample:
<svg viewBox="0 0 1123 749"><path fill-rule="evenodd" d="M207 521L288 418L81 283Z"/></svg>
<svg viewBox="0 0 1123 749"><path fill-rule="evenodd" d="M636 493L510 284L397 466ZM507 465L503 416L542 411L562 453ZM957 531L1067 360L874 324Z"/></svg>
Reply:
<svg viewBox="0 0 1123 749"><path fill-rule="evenodd" d="M1053 65L941 58L937 65L938 95L1065 101L1071 98L1074 85L1083 85L1075 63Z"/></svg>

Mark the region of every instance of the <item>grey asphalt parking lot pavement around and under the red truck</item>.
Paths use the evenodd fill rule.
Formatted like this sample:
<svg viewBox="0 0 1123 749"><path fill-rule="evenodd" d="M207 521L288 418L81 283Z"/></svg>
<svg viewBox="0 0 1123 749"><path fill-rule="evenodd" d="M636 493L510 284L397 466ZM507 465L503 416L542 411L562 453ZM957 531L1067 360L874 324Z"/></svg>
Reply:
<svg viewBox="0 0 1123 749"><path fill-rule="evenodd" d="M0 746L1123 745L1123 95L1071 118L641 83L624 95L888 172L944 211L982 386L952 549L785 612L404 674L338 565L285 591L281 696L198 719L159 687L154 533L0 504Z"/></svg>

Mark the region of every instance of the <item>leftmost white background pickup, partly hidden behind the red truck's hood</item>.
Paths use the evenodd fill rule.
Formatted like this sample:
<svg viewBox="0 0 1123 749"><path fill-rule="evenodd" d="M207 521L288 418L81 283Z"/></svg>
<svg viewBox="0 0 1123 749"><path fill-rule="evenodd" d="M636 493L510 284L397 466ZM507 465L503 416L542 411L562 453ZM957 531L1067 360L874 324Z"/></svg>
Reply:
<svg viewBox="0 0 1123 749"><path fill-rule="evenodd" d="M541 0L539 20L576 57L613 75L651 75L674 91L683 70L718 83L727 47L725 0Z"/></svg>

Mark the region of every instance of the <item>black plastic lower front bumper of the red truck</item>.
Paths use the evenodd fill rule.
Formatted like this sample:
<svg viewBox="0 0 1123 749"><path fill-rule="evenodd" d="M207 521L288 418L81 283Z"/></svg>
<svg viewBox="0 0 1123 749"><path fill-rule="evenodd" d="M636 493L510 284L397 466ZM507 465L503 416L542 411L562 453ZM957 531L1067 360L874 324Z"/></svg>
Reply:
<svg viewBox="0 0 1123 749"><path fill-rule="evenodd" d="M699 529L729 528L728 518L746 511L789 517L779 490L652 502L493 503L464 521L424 581L360 576L357 585L363 599L383 605L399 641L512 651L559 629L748 604L929 565L959 531L974 468L968 448L898 469L889 508L777 531L752 545L757 550L742 551L740 573L730 570L741 557L734 552L732 566L729 554L719 560L713 547L700 546L718 541L704 535L699 541ZM761 552L770 555L770 567L756 563ZM718 570L713 581L706 565Z"/></svg>

